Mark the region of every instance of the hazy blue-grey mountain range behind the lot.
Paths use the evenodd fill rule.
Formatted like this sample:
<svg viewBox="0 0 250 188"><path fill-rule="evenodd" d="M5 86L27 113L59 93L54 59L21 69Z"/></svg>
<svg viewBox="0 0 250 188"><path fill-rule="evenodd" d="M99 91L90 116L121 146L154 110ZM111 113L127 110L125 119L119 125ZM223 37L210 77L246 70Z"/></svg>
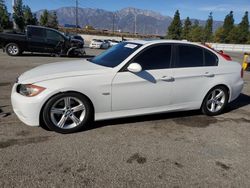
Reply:
<svg viewBox="0 0 250 188"><path fill-rule="evenodd" d="M39 19L44 10L36 12ZM75 7L62 7L55 11L60 25L75 25ZM91 25L96 29L121 30L123 32L137 32L140 34L165 35L168 26L173 18L163 16L158 12L142 10L137 8L124 8L111 12L103 9L78 8L79 26ZM204 26L206 21L199 19L200 25ZM184 22L184 20L182 20ZM214 21L213 29L216 30L223 24L221 21Z"/></svg>

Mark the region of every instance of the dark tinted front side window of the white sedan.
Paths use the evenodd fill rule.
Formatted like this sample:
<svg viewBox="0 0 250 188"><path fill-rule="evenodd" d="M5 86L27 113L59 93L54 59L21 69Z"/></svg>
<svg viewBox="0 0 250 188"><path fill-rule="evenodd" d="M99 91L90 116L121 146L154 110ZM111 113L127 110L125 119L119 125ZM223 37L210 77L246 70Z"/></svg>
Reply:
<svg viewBox="0 0 250 188"><path fill-rule="evenodd" d="M166 69L170 67L172 45L153 46L134 59L143 70Z"/></svg>

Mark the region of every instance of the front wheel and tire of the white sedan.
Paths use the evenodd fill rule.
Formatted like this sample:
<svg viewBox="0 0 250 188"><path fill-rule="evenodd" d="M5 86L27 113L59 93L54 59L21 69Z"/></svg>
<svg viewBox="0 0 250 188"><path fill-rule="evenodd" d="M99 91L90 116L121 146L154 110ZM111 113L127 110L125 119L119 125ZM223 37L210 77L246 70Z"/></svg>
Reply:
<svg viewBox="0 0 250 188"><path fill-rule="evenodd" d="M69 92L60 93L47 101L42 118L52 131L68 134L87 127L93 120L93 107L85 96Z"/></svg>

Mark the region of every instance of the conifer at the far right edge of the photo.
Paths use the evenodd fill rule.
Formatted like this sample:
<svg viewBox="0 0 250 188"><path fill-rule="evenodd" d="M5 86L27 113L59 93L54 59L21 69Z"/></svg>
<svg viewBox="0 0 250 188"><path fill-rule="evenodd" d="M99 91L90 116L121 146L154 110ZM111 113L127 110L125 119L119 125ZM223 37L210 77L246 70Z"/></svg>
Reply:
<svg viewBox="0 0 250 188"><path fill-rule="evenodd" d="M239 24L239 38L238 42L240 44L247 43L248 41L248 35L249 35L249 20L248 20L248 12L245 12L245 15L242 18L242 21Z"/></svg>

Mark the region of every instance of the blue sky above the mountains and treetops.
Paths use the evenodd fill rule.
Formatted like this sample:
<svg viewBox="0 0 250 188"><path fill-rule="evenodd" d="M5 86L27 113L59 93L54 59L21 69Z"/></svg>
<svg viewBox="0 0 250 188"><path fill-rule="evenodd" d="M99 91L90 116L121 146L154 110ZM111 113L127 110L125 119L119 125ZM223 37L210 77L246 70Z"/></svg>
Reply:
<svg viewBox="0 0 250 188"><path fill-rule="evenodd" d="M32 11L41 9L54 10L65 6L75 6L76 0L23 0L29 5ZM187 16L195 19L206 20L209 13L213 12L215 20L223 21L225 16L234 11L235 22L239 23L245 13L250 13L250 0L78 0L79 7L100 8L109 11L116 11L126 7L135 7L146 10L153 10L165 16L173 17L178 9L181 18ZM11 12L12 0L5 0Z"/></svg>

